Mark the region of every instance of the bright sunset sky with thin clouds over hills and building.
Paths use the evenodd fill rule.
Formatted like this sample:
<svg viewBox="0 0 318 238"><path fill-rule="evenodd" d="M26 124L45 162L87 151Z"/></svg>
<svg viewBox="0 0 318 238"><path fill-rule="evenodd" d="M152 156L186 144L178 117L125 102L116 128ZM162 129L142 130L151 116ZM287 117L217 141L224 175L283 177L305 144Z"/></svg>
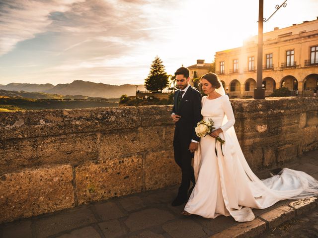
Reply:
<svg viewBox="0 0 318 238"><path fill-rule="evenodd" d="M284 0L264 0L268 18ZM264 23L315 20L318 0L287 0ZM144 84L156 56L166 72L214 60L257 35L258 0L0 0L0 84Z"/></svg>

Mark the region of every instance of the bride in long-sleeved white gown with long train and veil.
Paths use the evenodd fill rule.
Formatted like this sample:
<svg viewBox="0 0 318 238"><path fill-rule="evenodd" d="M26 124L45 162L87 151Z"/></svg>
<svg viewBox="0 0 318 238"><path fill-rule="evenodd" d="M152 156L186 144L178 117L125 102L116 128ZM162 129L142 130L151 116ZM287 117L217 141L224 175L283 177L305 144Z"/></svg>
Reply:
<svg viewBox="0 0 318 238"><path fill-rule="evenodd" d="M217 129L201 138L194 154L196 184L183 215L231 215L246 222L255 218L251 208L264 209L280 200L318 195L318 180L301 171L285 168L279 175L258 179L239 146L231 103L218 76L207 73L201 84L208 95L202 98L201 114L203 119L213 119ZM223 152L217 136L225 140Z"/></svg>

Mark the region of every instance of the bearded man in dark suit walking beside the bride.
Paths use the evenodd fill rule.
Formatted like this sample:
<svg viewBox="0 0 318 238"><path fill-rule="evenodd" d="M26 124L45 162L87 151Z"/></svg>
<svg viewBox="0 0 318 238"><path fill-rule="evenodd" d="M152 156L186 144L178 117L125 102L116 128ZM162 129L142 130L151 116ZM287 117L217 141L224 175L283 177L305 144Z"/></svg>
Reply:
<svg viewBox="0 0 318 238"><path fill-rule="evenodd" d="M181 168L182 179L178 195L172 202L172 206L180 206L185 203L188 200L187 193L190 187L190 180L195 184L191 160L193 152L198 149L200 140L194 128L202 119L202 95L190 86L189 73L189 69L185 67L178 68L174 73L179 90L174 93L174 104L171 114L172 121L175 122L173 149L174 160Z"/></svg>

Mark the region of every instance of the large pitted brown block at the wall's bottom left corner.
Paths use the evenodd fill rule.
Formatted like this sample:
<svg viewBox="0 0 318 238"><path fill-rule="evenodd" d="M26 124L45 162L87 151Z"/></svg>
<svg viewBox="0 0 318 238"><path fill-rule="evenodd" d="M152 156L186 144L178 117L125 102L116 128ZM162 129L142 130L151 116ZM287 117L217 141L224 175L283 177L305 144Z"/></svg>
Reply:
<svg viewBox="0 0 318 238"><path fill-rule="evenodd" d="M73 207L69 165L5 174L0 178L0 223Z"/></svg>

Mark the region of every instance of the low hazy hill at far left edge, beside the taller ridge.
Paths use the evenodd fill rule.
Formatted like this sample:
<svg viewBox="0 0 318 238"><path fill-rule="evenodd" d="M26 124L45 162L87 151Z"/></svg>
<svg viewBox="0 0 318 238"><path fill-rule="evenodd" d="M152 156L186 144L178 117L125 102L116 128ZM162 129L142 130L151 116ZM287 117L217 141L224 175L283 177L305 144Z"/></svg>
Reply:
<svg viewBox="0 0 318 238"><path fill-rule="evenodd" d="M7 85L0 85L0 89L8 91L46 92L52 88L54 88L54 85L50 83L9 83Z"/></svg>

